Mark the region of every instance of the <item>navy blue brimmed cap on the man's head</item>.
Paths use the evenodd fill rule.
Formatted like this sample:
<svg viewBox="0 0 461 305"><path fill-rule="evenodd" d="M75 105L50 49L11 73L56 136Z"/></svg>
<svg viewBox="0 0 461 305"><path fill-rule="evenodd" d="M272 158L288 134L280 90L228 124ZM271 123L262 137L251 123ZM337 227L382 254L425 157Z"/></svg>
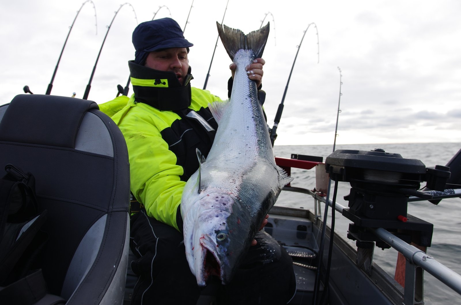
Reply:
<svg viewBox="0 0 461 305"><path fill-rule="evenodd" d="M135 63L143 65L150 52L172 47L189 47L193 44L184 38L183 30L171 18L161 18L139 23L133 31L133 46L136 49Z"/></svg>

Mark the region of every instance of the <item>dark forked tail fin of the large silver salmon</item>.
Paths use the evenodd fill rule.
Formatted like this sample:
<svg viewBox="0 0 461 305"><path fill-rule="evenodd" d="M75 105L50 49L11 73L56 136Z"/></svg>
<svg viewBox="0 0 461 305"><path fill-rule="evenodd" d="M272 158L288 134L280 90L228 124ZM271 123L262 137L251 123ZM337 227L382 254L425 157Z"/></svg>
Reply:
<svg viewBox="0 0 461 305"><path fill-rule="evenodd" d="M224 48L232 60L234 60L237 51L241 49L253 50L255 58L262 57L267 37L269 37L269 23L247 35L243 34L240 29L232 29L218 22L216 22L216 25L218 26L219 37L221 37Z"/></svg>

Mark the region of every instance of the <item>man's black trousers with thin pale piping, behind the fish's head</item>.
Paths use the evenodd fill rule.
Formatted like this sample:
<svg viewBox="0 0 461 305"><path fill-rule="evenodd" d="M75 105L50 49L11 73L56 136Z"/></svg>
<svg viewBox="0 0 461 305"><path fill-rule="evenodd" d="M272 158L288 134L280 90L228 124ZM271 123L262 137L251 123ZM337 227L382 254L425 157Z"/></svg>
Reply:
<svg viewBox="0 0 461 305"><path fill-rule="evenodd" d="M146 215L131 217L131 251L138 257L131 269L139 276L132 304L195 305L201 293L189 269L183 234ZM292 260L264 231L255 238L231 283L218 286L218 304L286 304L296 292Z"/></svg>

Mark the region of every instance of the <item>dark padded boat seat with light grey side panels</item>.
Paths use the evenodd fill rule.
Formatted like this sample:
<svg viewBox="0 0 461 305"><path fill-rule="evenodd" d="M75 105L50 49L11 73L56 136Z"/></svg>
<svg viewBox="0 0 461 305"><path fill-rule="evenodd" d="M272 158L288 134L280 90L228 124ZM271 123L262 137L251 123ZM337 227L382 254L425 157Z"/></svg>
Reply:
<svg viewBox="0 0 461 305"><path fill-rule="evenodd" d="M128 151L98 105L20 94L0 106L0 175L13 164L35 177L40 265L47 293L66 304L122 304L129 249Z"/></svg>

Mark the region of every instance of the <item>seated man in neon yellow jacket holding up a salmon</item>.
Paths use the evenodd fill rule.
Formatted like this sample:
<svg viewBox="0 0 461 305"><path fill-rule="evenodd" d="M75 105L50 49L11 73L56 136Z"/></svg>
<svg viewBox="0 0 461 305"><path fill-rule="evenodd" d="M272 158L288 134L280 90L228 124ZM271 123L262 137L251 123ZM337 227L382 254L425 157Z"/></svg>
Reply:
<svg viewBox="0 0 461 305"><path fill-rule="evenodd" d="M208 103L221 99L191 87L193 44L173 19L139 24L133 45L134 94L127 104L100 105L124 134L131 192L142 203L130 224L130 248L138 257L131 269L139 276L132 303L196 304L201 288L185 256L180 202L199 165L195 149L206 157L218 128ZM264 63L256 59L247 67L258 88ZM286 304L296 291L290 257L263 231L252 245L232 282L218 284L219 304Z"/></svg>

